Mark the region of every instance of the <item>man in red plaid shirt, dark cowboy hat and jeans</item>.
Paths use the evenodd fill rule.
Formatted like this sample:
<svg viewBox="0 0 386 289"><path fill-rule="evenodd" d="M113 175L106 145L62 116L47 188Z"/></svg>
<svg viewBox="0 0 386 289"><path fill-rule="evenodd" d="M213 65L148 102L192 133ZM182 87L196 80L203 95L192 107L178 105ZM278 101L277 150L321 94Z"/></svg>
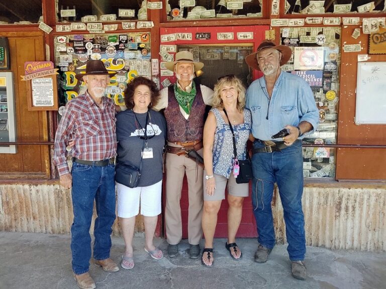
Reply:
<svg viewBox="0 0 386 289"><path fill-rule="evenodd" d="M115 75L111 73L110 75ZM110 259L111 233L115 220L115 135L114 102L104 97L110 82L101 60L89 60L86 71L77 74L87 90L69 101L55 136L53 162L60 184L72 187L74 219L71 226L72 270L80 288L95 288L88 273L91 256L89 229L93 203L96 203L93 257L96 266L115 272L119 268ZM71 141L73 145L66 145ZM71 172L67 153L72 156Z"/></svg>

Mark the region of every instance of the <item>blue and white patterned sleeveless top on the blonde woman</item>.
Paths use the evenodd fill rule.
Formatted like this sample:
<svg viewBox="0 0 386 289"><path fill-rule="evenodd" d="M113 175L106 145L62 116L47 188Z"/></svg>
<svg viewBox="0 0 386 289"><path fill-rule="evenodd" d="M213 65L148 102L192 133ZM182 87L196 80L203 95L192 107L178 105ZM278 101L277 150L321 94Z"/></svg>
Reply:
<svg viewBox="0 0 386 289"><path fill-rule="evenodd" d="M211 109L216 117L216 132L213 143L213 172L229 178L233 167L233 140L232 132L220 111L216 108ZM237 158L246 159L246 144L251 132L252 118L251 112L244 109L244 123L233 126L236 137Z"/></svg>

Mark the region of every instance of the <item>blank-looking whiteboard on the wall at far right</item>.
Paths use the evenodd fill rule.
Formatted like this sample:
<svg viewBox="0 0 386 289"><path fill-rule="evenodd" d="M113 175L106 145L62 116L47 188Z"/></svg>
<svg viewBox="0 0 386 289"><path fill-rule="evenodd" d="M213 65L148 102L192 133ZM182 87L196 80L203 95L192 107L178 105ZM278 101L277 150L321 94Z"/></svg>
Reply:
<svg viewBox="0 0 386 289"><path fill-rule="evenodd" d="M386 62L358 63L355 124L386 124Z"/></svg>

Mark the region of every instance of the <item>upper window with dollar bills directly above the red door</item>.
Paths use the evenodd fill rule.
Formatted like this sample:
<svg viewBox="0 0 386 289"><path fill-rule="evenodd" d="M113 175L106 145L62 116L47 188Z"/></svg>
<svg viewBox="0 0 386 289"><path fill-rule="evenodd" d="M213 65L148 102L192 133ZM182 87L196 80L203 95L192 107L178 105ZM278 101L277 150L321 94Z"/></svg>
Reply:
<svg viewBox="0 0 386 289"><path fill-rule="evenodd" d="M262 17L262 0L166 0L167 20Z"/></svg>

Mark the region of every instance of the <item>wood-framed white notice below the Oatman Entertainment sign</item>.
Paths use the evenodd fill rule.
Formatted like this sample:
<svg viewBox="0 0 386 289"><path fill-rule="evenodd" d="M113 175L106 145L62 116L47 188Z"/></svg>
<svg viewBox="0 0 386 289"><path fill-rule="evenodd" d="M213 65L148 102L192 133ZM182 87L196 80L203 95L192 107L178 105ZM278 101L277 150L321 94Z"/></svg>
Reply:
<svg viewBox="0 0 386 289"><path fill-rule="evenodd" d="M58 110L57 84L55 75L48 75L31 79L31 98L28 98L28 110Z"/></svg>

